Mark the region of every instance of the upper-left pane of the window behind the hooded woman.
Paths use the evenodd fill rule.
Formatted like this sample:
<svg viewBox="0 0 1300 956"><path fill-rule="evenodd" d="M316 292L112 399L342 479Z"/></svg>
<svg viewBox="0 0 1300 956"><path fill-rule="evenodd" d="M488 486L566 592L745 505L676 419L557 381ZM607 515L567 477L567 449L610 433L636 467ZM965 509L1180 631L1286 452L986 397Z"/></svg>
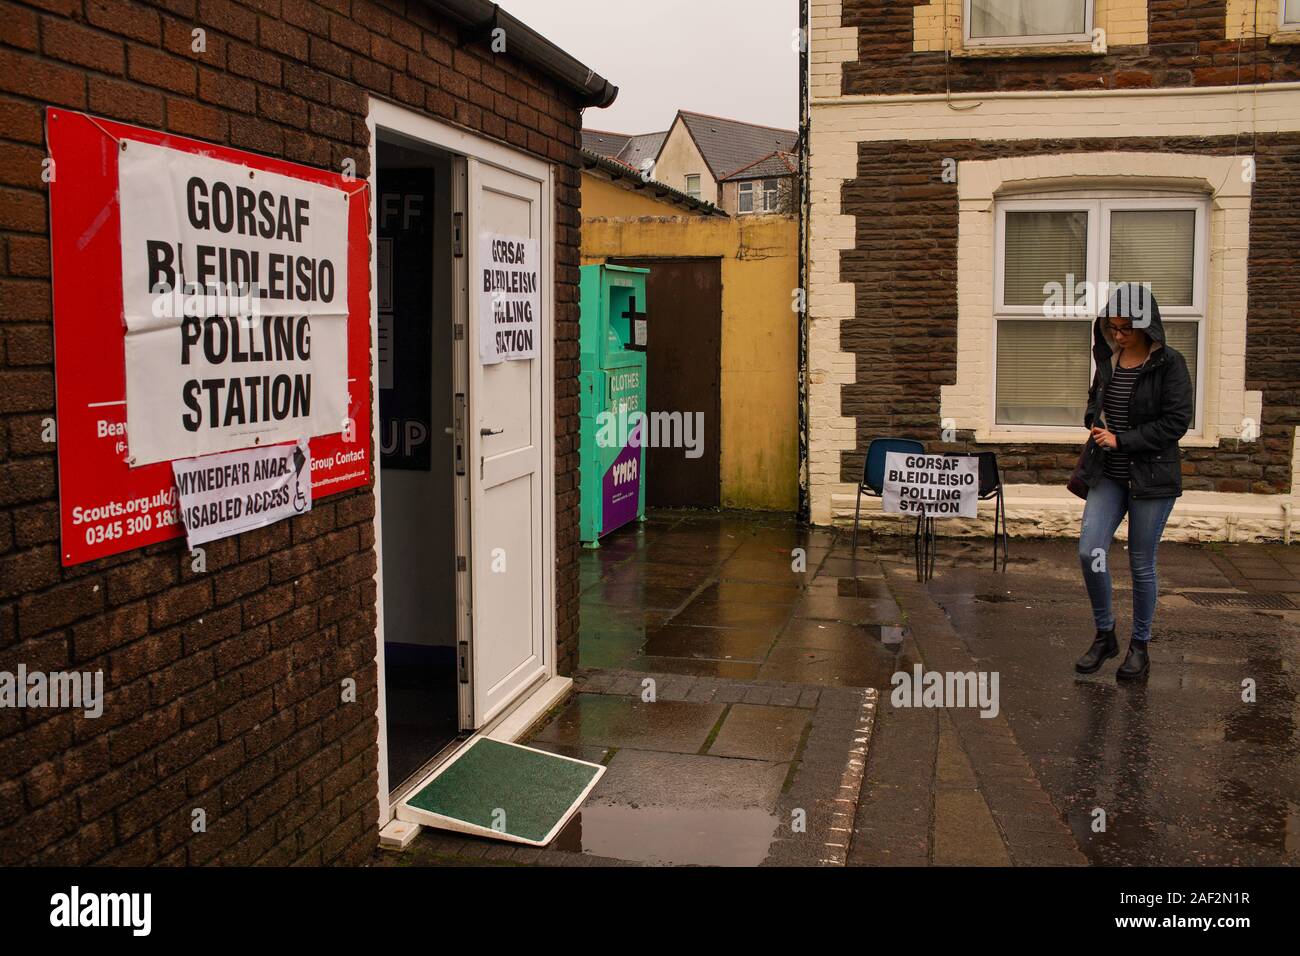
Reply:
<svg viewBox="0 0 1300 956"><path fill-rule="evenodd" d="M1087 212L1006 213L1008 306L1041 306L1049 298L1049 284L1072 290L1072 284L1087 277Z"/></svg>

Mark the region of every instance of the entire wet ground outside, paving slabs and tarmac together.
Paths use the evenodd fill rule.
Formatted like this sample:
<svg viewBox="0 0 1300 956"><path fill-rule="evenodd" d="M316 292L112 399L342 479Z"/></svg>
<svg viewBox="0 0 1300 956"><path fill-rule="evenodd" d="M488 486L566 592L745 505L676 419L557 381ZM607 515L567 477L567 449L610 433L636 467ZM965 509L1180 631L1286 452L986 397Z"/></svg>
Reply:
<svg viewBox="0 0 1300 956"><path fill-rule="evenodd" d="M578 693L532 744L608 773L547 849L426 831L378 862L1300 861L1300 610L1188 597L1300 605L1300 550L1164 545L1152 674L1127 687L1118 661L1074 674L1072 541L1013 541L1004 574L988 541L940 540L922 585L910 537L848 540L660 512L585 551ZM1112 562L1123 619L1122 544ZM998 713L892 706L916 665L996 671Z"/></svg>

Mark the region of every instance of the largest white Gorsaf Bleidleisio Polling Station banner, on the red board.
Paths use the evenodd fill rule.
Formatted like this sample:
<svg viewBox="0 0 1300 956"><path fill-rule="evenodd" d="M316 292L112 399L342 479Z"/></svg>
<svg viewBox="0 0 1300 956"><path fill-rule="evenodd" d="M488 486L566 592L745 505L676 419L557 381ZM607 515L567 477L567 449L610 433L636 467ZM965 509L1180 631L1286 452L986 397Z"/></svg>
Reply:
<svg viewBox="0 0 1300 956"><path fill-rule="evenodd" d="M126 146L117 160L130 463L343 431L347 194Z"/></svg>

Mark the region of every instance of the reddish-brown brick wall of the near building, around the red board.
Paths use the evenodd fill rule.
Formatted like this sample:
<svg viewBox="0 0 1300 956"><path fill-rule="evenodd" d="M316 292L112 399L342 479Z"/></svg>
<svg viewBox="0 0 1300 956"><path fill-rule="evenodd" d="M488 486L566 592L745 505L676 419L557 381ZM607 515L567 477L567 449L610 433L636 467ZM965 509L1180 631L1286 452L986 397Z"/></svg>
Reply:
<svg viewBox="0 0 1300 956"><path fill-rule="evenodd" d="M191 49L203 29L207 49ZM0 670L105 709L0 710L0 864L355 864L377 791L374 497L207 546L58 562L48 104L368 176L373 92L556 166L560 671L577 654L575 99L416 0L0 0ZM341 704L341 682L358 683ZM191 810L207 832L191 831Z"/></svg>

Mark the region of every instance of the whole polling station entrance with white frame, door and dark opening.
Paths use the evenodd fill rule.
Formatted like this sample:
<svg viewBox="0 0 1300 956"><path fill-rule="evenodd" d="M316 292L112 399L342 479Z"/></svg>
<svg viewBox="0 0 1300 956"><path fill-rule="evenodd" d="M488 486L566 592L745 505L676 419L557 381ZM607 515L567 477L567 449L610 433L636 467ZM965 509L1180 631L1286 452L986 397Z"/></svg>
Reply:
<svg viewBox="0 0 1300 956"><path fill-rule="evenodd" d="M382 100L368 125L387 825L412 822L412 801L476 735L520 732L571 682L555 672L552 630L551 169ZM497 300L481 290L503 241L536 243L514 246L530 276L520 294L538 297L536 354L493 362Z"/></svg>

